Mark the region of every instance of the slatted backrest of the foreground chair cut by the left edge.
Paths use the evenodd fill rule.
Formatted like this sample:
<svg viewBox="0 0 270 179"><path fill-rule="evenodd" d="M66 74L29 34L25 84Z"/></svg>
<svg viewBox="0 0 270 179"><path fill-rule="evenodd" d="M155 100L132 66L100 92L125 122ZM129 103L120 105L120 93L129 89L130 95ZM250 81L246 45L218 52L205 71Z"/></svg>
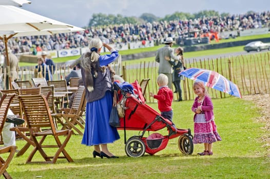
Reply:
<svg viewBox="0 0 270 179"><path fill-rule="evenodd" d="M0 133L2 133L6 117L8 114L9 105L15 94L3 94L0 100Z"/></svg>

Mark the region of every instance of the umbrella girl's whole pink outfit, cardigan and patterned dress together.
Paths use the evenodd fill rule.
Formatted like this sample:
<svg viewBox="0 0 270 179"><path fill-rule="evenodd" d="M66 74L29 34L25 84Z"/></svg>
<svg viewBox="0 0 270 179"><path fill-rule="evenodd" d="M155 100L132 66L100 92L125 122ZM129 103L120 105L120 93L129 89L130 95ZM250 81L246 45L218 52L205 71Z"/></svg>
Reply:
<svg viewBox="0 0 270 179"><path fill-rule="evenodd" d="M194 111L198 106L202 105L202 114L194 115L194 138L193 143L208 143L221 141L221 137L217 131L217 126L214 121L213 113L213 103L210 97L205 97L202 102L198 102L198 98L195 99L194 104L192 105L192 111Z"/></svg>

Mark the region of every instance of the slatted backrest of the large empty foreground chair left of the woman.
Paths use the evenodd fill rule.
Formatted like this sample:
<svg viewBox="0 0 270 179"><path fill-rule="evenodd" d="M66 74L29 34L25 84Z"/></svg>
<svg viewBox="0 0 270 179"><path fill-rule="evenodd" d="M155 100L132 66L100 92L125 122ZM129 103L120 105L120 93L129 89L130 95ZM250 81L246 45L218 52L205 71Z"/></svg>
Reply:
<svg viewBox="0 0 270 179"><path fill-rule="evenodd" d="M25 114L25 120L30 133L36 128L47 128L55 134L55 127L51 117L51 112L44 95L24 95L18 96Z"/></svg>

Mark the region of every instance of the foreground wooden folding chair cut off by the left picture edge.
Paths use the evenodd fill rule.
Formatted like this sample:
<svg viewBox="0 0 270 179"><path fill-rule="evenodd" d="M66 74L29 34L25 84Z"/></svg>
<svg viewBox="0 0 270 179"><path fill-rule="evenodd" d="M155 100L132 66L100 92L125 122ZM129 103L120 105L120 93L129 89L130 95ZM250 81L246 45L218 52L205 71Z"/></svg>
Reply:
<svg viewBox="0 0 270 179"><path fill-rule="evenodd" d="M1 97L0 100L0 133L2 133L5 121L6 121L6 117L7 117L7 113L8 113L8 108L9 105L13 99L15 95L7 95L4 94ZM16 146L7 146L7 147L0 147L0 154L4 154L4 153L9 153L8 157L6 158L6 160L4 160L1 156L0 156L0 175L3 174L3 176L5 178L12 178L9 173L7 172L7 168L11 162L11 160L13 159L13 156L16 152Z"/></svg>

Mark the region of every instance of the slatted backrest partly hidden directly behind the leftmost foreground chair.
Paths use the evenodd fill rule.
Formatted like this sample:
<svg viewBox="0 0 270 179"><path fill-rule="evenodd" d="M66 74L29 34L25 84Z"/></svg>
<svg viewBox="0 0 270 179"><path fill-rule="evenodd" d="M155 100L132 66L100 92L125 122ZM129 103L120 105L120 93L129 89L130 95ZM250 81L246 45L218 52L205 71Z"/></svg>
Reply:
<svg viewBox="0 0 270 179"><path fill-rule="evenodd" d="M18 96L19 96L18 89L6 89L6 90L2 90L1 92L3 94L15 94L14 98L11 101L11 105L9 106L9 108L12 110L14 115L22 118L23 114L22 114L21 103L18 99Z"/></svg>

